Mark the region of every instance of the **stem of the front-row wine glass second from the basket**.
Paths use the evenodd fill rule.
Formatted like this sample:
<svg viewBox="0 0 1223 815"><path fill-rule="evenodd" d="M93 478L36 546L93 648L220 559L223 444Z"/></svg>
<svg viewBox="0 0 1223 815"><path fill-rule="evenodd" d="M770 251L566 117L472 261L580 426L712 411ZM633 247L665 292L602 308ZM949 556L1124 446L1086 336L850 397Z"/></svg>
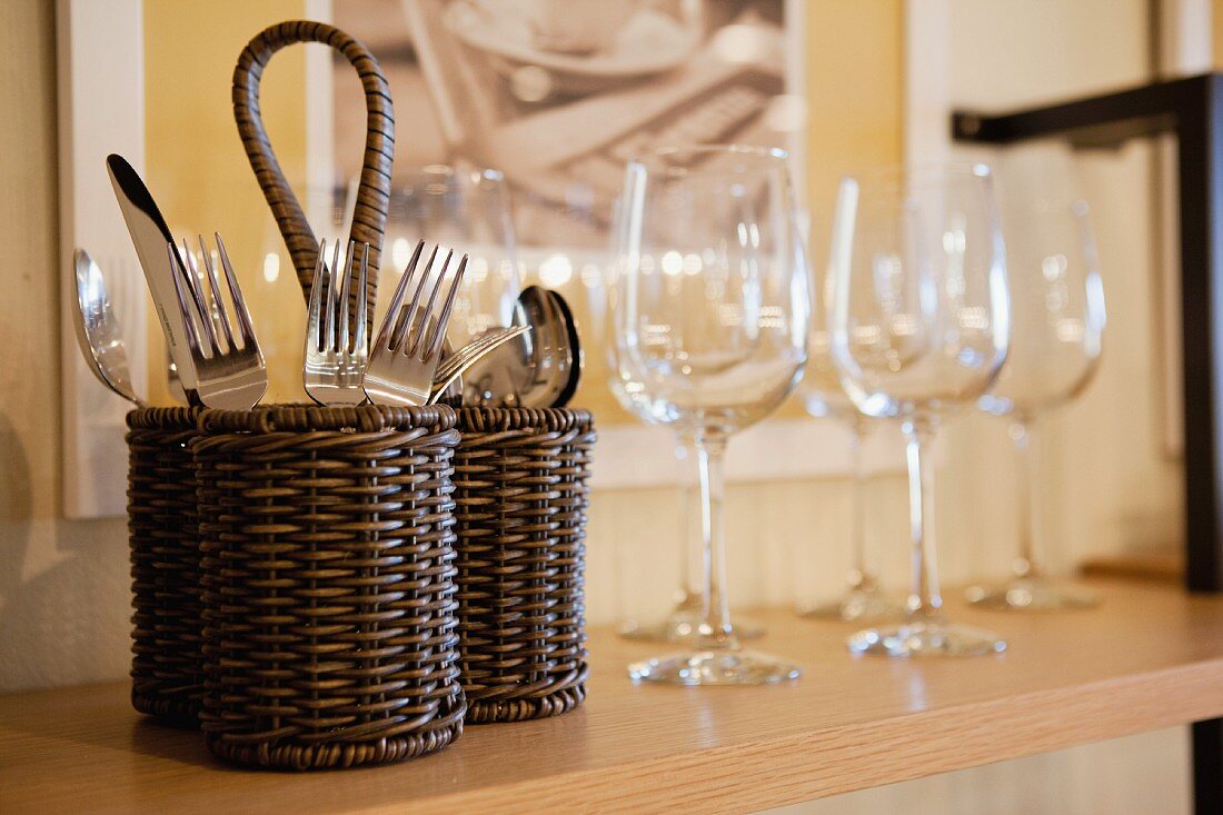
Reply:
<svg viewBox="0 0 1223 815"><path fill-rule="evenodd" d="M912 584L906 603L910 622L942 617L943 597L938 590L938 562L934 557L934 478L931 447L934 426L927 419L906 420L905 452L909 463L909 523L912 535Z"/></svg>

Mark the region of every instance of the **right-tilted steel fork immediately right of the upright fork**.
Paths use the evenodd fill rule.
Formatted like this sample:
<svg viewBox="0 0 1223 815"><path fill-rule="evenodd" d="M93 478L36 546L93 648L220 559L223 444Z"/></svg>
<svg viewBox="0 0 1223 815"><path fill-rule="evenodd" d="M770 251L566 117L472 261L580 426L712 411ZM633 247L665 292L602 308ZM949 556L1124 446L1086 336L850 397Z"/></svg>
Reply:
<svg viewBox="0 0 1223 815"><path fill-rule="evenodd" d="M450 283L442 311L434 316L433 307L438 294L446 283L446 268L454 252L446 252L446 258L437 273L428 300L421 307L421 297L429 284L433 261L438 256L434 246L419 279L412 285L416 269L424 251L424 241L416 245L412 259L408 261L404 277L395 288L386 316L378 329L369 365L366 368L364 388L371 401L379 405L424 405L433 393L433 374L442 357L442 344L446 337L446 323L450 322L450 310L455 294L467 270L467 256L464 255ZM412 300L404 306L404 297L412 286Z"/></svg>

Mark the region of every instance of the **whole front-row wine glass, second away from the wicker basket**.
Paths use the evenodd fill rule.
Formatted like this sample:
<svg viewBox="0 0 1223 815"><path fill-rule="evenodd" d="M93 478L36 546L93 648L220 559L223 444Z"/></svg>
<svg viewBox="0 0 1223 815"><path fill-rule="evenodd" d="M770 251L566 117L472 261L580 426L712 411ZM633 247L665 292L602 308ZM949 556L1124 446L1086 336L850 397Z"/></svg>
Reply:
<svg viewBox="0 0 1223 815"><path fill-rule="evenodd" d="M829 263L833 360L859 410L900 421L912 532L905 620L859 631L849 647L889 656L1003 651L998 635L943 617L931 465L939 423L989 388L1010 343L989 169L933 165L845 179Z"/></svg>

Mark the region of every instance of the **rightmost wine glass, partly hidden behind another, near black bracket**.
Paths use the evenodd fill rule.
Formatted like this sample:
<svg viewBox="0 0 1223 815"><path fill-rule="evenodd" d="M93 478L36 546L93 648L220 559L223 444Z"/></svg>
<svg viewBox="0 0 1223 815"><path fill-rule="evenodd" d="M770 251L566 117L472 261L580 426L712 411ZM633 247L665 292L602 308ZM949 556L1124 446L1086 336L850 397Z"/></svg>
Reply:
<svg viewBox="0 0 1223 815"><path fill-rule="evenodd" d="M1014 337L1007 366L977 404L1010 420L1020 463L1019 553L1010 580L974 586L969 600L1004 611L1090 608L1098 602L1093 594L1053 585L1044 575L1035 489L1041 417L1081 394L1099 366L1104 290L1087 202L1079 195L1071 157L1057 148L1014 153L998 177L1010 235Z"/></svg>

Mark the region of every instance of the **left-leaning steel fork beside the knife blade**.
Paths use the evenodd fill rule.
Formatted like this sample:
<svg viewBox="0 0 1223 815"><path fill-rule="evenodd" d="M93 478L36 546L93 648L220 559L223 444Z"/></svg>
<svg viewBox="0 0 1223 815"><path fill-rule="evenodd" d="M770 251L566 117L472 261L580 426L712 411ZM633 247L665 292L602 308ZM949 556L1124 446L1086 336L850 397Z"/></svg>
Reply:
<svg viewBox="0 0 1223 815"><path fill-rule="evenodd" d="M259 404L268 389L268 372L263 365L263 352L254 338L251 313L242 299L237 277L230 263L229 253L221 236L216 237L216 255L225 272L230 301L237 319L237 334L230 322L229 313L216 281L216 269L212 252L199 236L199 255L208 273L210 296L205 295L199 281L199 270L187 241L182 241L182 253L186 261L187 279L172 274L174 289L179 296L179 308L182 310L182 322L187 334L187 348L196 366L199 400L208 408L225 410L249 410ZM170 268L180 268L175 263L175 246L166 244ZM223 343L224 339L224 343Z"/></svg>

